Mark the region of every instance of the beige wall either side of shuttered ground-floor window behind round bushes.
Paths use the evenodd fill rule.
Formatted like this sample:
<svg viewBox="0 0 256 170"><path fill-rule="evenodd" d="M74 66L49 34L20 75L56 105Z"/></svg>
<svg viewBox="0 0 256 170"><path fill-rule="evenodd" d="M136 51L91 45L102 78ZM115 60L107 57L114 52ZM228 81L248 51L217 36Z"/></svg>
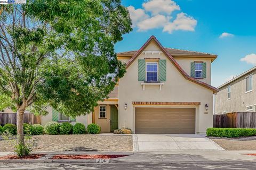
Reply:
<svg viewBox="0 0 256 170"><path fill-rule="evenodd" d="M44 126L47 122L51 122L52 121L52 108L48 107L47 111L49 112L49 114L47 114L46 116L42 116L42 125ZM76 117L76 122L71 122L71 124L75 125L76 123L83 123L85 125L85 127L87 127L87 115L85 116L77 116Z"/></svg>

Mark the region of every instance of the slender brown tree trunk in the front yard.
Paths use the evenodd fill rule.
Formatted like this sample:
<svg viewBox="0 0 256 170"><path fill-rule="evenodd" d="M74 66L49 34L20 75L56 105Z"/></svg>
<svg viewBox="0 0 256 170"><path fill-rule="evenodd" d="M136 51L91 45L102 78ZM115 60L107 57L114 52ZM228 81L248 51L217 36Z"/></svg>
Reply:
<svg viewBox="0 0 256 170"><path fill-rule="evenodd" d="M18 144L25 146L24 134L23 134L23 116L25 108L19 108L17 112L17 137ZM25 155L25 149L22 150L22 156Z"/></svg>

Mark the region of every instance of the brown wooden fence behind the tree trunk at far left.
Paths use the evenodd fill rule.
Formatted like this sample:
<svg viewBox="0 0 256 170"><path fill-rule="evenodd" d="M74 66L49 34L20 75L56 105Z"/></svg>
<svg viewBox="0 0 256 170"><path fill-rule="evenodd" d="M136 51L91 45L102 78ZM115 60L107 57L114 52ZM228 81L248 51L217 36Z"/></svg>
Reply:
<svg viewBox="0 0 256 170"><path fill-rule="evenodd" d="M0 113L0 125L3 126L7 123L17 124L17 113ZM24 113L24 123L41 124L41 116L36 116L31 113Z"/></svg>

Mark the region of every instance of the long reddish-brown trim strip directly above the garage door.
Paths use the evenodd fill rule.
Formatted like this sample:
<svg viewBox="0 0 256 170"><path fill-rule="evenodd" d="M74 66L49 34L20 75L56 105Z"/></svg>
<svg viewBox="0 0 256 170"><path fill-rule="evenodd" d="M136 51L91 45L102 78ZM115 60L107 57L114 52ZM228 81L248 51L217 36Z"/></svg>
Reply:
<svg viewBox="0 0 256 170"><path fill-rule="evenodd" d="M195 106L201 105L200 102L168 102L168 101L132 101L133 105L177 105L177 106Z"/></svg>

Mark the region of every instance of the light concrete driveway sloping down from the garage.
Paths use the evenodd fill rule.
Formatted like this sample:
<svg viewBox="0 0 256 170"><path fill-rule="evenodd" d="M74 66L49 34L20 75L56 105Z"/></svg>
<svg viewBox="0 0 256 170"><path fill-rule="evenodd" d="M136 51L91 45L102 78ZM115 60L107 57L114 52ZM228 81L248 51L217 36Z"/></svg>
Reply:
<svg viewBox="0 0 256 170"><path fill-rule="evenodd" d="M224 150L204 135L133 134L133 151Z"/></svg>

